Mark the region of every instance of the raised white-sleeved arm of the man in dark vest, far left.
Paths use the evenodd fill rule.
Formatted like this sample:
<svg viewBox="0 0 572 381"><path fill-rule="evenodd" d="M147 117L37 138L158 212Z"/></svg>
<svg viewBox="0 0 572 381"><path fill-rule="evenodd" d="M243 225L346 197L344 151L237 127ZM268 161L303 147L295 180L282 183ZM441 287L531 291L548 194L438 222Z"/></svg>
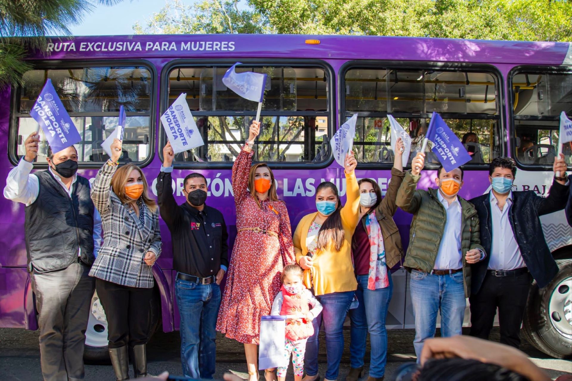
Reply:
<svg viewBox="0 0 572 381"><path fill-rule="evenodd" d="M31 133L24 143L26 154L17 166L15 166L6 179L4 197L15 202L30 205L38 198L38 177L31 175L34 168L33 162L38 155L38 133Z"/></svg>

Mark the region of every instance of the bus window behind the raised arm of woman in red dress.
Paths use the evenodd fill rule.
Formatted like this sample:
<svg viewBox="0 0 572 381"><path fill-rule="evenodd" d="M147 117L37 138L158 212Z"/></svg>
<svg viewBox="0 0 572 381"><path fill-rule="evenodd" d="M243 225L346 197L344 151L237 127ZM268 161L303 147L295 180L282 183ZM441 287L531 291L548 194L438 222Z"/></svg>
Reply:
<svg viewBox="0 0 572 381"><path fill-rule="evenodd" d="M257 103L228 89L223 75L229 65L176 67L169 73L169 105L186 93L204 146L177 154L175 162L233 162L248 138ZM328 81L320 67L241 65L241 71L265 73L261 132L255 160L324 162L328 155Z"/></svg>

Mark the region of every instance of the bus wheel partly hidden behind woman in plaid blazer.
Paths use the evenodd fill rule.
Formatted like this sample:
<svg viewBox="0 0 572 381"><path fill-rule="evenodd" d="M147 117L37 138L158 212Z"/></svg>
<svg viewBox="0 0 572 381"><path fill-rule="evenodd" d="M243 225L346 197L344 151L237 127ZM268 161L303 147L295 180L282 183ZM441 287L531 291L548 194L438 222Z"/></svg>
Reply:
<svg viewBox="0 0 572 381"><path fill-rule="evenodd" d="M161 298L157 287L153 288L151 300L151 323L149 339L158 330L161 322ZM107 336L107 318L97 296L93 292L90 305L88 327L85 331L84 362L88 364L109 364L109 348Z"/></svg>

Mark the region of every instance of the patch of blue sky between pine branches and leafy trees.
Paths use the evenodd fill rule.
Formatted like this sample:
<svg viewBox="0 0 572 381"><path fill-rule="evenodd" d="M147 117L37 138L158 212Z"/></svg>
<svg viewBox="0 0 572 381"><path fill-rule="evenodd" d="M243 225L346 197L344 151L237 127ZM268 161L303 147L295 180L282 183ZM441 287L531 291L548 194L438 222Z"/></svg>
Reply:
<svg viewBox="0 0 572 381"><path fill-rule="evenodd" d="M72 26L70 30L76 36L133 34L134 23L140 21L144 25L146 19L164 6L165 0L124 0L110 7L98 6L84 17L81 25Z"/></svg>

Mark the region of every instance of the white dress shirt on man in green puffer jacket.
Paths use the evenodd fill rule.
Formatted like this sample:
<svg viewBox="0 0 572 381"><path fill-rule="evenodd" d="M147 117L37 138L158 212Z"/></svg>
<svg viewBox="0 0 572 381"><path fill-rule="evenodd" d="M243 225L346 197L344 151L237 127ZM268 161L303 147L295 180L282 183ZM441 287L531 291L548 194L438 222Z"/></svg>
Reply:
<svg viewBox="0 0 572 381"><path fill-rule="evenodd" d="M443 229L443 236L439 243L439 251L435 260L435 270L457 270L463 267L463 255L461 253L461 223L462 208L459 198L448 201L437 191L439 201L447 211L447 220Z"/></svg>

